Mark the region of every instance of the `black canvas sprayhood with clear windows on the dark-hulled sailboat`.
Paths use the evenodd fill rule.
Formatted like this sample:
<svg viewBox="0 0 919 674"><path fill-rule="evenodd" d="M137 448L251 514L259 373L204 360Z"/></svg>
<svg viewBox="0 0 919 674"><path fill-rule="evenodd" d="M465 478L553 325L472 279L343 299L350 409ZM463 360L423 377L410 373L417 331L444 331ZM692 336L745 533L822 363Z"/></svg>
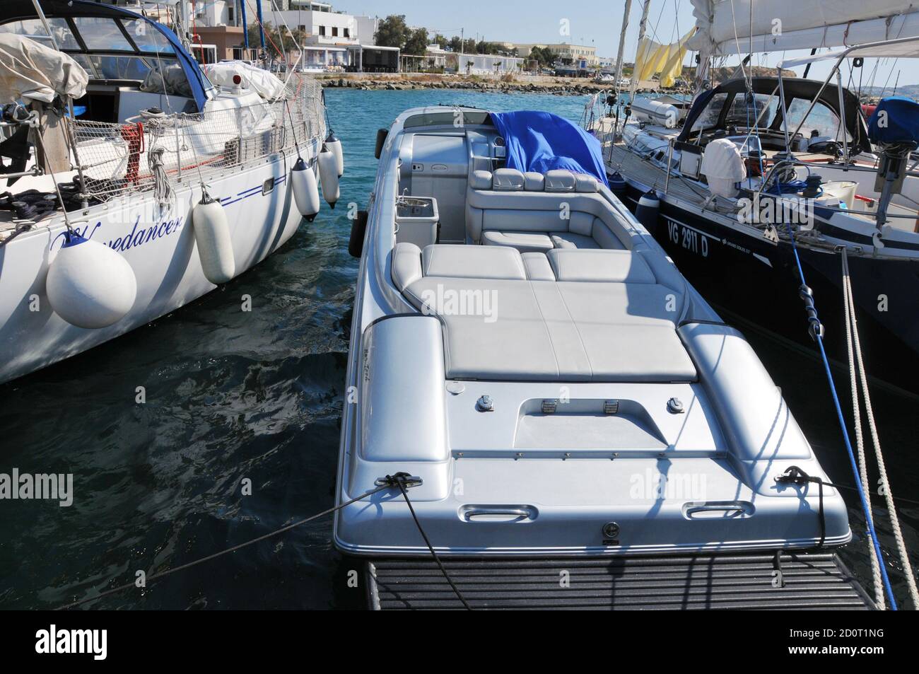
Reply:
<svg viewBox="0 0 919 674"><path fill-rule="evenodd" d="M777 77L754 77L752 80L754 94L769 96L775 94L778 97L778 78ZM798 98L800 100L811 102L817 98L824 106L830 109L837 118L842 118L839 109L839 93L835 85L823 87L823 93L817 97L823 82L816 80L805 80L798 78L782 78L782 88L785 90L785 104L791 108L792 102ZM725 120L731 114L733 100L740 96L743 97L746 92L746 84L743 79L730 80L713 89L709 89L696 97L692 108L686 115L686 121L683 123L683 131L680 132L678 141L686 143L690 134L698 129L693 130L693 126L702 113L709 108L709 103L719 94L725 95L725 100L720 109L717 120L712 120L708 125L709 128L718 129L725 125ZM845 106L845 128L849 132L852 141L849 146L857 148L862 152L871 151L871 143L868 141L868 128L865 126L865 117L861 112L861 105L858 98L851 91L843 88L843 102ZM813 113L811 113L813 114ZM772 120L764 120L764 125L774 131L782 130L782 109L778 105ZM794 121L789 124L789 132L794 131L798 124Z"/></svg>

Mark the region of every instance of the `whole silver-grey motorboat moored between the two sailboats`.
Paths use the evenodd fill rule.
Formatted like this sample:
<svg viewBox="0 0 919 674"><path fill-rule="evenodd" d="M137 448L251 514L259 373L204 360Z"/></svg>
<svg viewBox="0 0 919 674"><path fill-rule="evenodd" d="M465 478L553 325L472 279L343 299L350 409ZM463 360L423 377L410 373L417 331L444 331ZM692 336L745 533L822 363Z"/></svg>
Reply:
<svg viewBox="0 0 919 674"><path fill-rule="evenodd" d="M380 136L334 534L374 608L870 604L781 392L596 139L444 107Z"/></svg>

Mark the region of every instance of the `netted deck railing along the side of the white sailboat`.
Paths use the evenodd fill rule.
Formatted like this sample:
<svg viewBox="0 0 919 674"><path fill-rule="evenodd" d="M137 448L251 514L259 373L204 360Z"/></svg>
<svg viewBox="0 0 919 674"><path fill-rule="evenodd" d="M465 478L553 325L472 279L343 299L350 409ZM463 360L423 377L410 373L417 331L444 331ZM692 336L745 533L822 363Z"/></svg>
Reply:
<svg viewBox="0 0 919 674"><path fill-rule="evenodd" d="M156 181L207 181L325 134L322 87L293 75L285 97L196 113L141 115L126 123L67 119L88 203L153 190ZM165 178L164 178L165 177Z"/></svg>

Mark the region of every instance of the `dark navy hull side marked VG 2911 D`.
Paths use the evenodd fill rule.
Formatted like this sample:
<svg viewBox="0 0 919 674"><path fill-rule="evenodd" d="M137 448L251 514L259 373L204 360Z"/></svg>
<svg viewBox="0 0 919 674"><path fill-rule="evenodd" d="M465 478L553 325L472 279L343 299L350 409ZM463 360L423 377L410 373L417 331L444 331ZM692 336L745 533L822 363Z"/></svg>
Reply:
<svg viewBox="0 0 919 674"><path fill-rule="evenodd" d="M628 178L627 184L625 202L634 211L648 188ZM788 243L773 244L722 227L666 198L656 226L649 230L721 313L815 352ZM825 328L828 355L847 363L840 257L803 246L799 255ZM919 280L919 264L850 256L849 268L869 377L919 394L919 297L911 290Z"/></svg>

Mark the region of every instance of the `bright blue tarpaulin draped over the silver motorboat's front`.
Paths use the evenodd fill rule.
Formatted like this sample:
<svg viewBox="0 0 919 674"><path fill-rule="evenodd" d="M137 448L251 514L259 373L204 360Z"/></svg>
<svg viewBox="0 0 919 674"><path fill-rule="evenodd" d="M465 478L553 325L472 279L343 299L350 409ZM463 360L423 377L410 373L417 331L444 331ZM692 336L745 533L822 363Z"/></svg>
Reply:
<svg viewBox="0 0 919 674"><path fill-rule="evenodd" d="M596 177L609 187L600 142L584 129L550 112L493 112L507 145L507 167L545 173L567 168Z"/></svg>

